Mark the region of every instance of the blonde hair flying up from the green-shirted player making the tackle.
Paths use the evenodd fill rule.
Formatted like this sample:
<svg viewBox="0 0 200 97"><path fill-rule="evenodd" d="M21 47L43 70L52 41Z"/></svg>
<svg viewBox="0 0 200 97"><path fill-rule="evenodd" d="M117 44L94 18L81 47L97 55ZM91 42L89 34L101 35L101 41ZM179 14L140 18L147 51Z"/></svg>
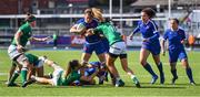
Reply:
<svg viewBox="0 0 200 97"><path fill-rule="evenodd" d="M93 12L93 18L98 19L99 22L103 22L104 18L102 17L102 10L98 8L91 8Z"/></svg>

